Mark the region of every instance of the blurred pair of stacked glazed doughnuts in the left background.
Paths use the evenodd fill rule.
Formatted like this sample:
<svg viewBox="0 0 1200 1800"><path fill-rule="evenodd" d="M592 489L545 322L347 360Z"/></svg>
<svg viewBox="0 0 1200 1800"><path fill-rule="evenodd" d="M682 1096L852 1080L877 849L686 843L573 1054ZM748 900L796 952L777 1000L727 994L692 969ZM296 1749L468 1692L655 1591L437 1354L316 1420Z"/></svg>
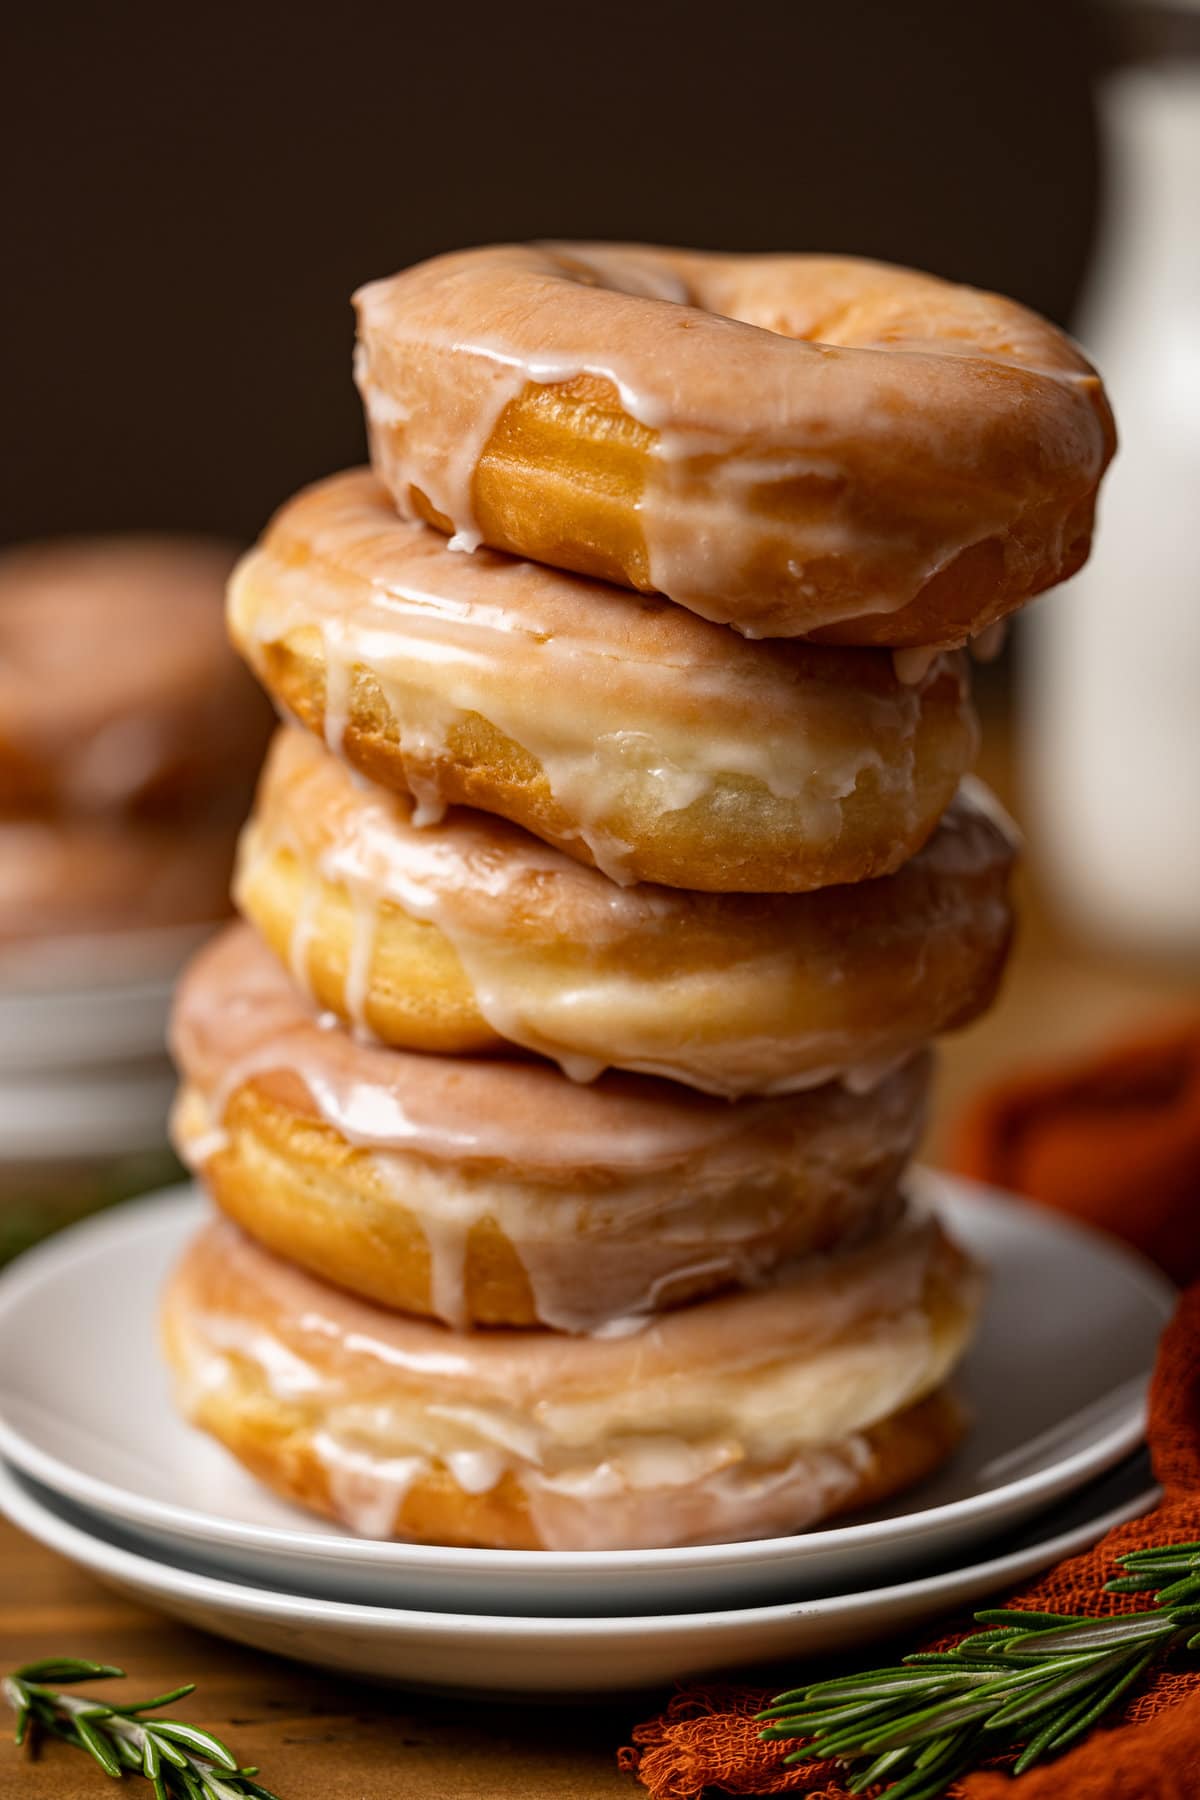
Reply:
<svg viewBox="0 0 1200 1800"><path fill-rule="evenodd" d="M221 544L153 536L0 556L5 979L52 970L81 940L103 965L113 932L228 913L268 733L223 630L232 562Z"/></svg>

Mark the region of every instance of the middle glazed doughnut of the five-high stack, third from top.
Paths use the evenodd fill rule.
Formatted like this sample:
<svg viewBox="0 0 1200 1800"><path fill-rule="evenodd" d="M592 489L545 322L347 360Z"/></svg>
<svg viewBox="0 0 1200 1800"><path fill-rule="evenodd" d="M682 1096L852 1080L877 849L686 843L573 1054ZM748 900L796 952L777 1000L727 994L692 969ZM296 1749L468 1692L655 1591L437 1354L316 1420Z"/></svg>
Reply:
<svg viewBox="0 0 1200 1800"><path fill-rule="evenodd" d="M613 887L488 814L417 830L407 796L284 731L236 895L320 1006L387 1044L783 1093L892 1064L991 999L1013 837L975 790L882 880L696 895Z"/></svg>

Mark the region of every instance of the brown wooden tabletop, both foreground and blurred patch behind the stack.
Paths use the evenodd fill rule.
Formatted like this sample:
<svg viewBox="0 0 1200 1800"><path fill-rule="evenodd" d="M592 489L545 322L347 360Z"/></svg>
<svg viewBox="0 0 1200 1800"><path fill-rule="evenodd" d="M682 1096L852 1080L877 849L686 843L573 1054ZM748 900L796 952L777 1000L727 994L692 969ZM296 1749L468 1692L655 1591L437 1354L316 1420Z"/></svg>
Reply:
<svg viewBox="0 0 1200 1800"><path fill-rule="evenodd" d="M1024 878L1029 889L1029 877ZM946 1118L981 1082L1031 1060L1096 1044L1187 1003L1191 974L1126 967L1067 943L1025 893L1025 925L1000 1004L943 1048L930 1154ZM90 1577L0 1523L0 1669L49 1654L128 1669L139 1690L196 1681L180 1714L257 1762L281 1800L592 1800L640 1793L615 1768L630 1726L655 1696L599 1706L435 1701L327 1678L198 1631L106 1593ZM0 1744L0 1800L92 1800L101 1771L50 1744L25 1762Z"/></svg>

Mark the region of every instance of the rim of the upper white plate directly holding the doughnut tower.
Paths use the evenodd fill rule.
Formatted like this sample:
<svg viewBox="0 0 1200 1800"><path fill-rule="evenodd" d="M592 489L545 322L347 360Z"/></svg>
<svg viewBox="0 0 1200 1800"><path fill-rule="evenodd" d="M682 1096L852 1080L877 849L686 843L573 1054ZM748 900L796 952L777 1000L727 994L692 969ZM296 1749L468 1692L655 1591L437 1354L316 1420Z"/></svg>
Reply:
<svg viewBox="0 0 1200 1800"><path fill-rule="evenodd" d="M1142 1291L1148 1303L1160 1314L1162 1323L1171 1316L1177 1289L1171 1282L1139 1251L1121 1238L1083 1224L1070 1215L1061 1215L1051 1208L1000 1188L952 1175L943 1170L914 1168L909 1174L912 1190L923 1202L937 1204L937 1193L970 1195L972 1204L1018 1210L1027 1220L1051 1235L1083 1240L1092 1251L1099 1251L1110 1260L1123 1264L1124 1273ZM122 1238L130 1231L144 1226L146 1219L166 1220L167 1213L178 1211L184 1204L201 1204L203 1190L196 1183L176 1183L158 1188L135 1201L126 1201L110 1211L79 1220L56 1233L43 1244L34 1246L0 1273L0 1323L9 1307L22 1301L29 1291L36 1291L45 1282L52 1282L61 1265L72 1265L81 1255L103 1246L108 1238ZM191 1226L189 1226L191 1228ZM1146 1381L1150 1370L1146 1370ZM311 1526L254 1525L237 1519L205 1514L193 1507L180 1507L176 1501L155 1499L119 1487L101 1476L72 1467L50 1451L41 1449L9 1418L4 1417L4 1395L0 1390L0 1456L14 1463L18 1471L32 1476L54 1494L77 1501L85 1508L106 1517L121 1519L148 1530L157 1530L175 1537L201 1539L207 1543L237 1544L245 1550L286 1553L295 1559L331 1557L335 1562L358 1562L367 1566L412 1566L425 1571L446 1570L453 1575L531 1575L534 1571L587 1575L612 1573L621 1568L628 1573L653 1570L666 1573L673 1568L707 1570L727 1561L754 1566L770 1566L792 1557L817 1552L853 1552L865 1550L903 1526L905 1535L921 1541L936 1535L946 1525L959 1525L977 1517L981 1512L1006 1510L1006 1505L1045 1501L1047 1505L1060 1494L1079 1487L1088 1476L1103 1474L1128 1456L1144 1436L1146 1406L1144 1399L1130 1408L1130 1417L1114 1426L1094 1444L1074 1451L1061 1462L1033 1471L999 1487L968 1494L961 1499L943 1501L919 1512L900 1517L871 1519L860 1525L833 1525L810 1532L793 1532L783 1537L738 1539L720 1544L673 1544L667 1548L628 1548L628 1550L489 1550L464 1544L414 1544L392 1539L338 1537Z"/></svg>

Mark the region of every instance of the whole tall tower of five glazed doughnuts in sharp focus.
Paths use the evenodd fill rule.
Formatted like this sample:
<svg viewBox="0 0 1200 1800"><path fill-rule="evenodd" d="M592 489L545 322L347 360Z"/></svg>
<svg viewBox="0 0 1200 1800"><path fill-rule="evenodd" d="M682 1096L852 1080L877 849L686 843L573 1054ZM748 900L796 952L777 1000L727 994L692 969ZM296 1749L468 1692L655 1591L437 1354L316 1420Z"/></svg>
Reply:
<svg viewBox="0 0 1200 1800"><path fill-rule="evenodd" d="M358 310L374 472L228 589L288 724L176 1003L180 1404L383 1537L876 1501L981 1298L903 1192L1011 931L963 646L1087 556L1099 382L824 257L471 250Z"/></svg>

